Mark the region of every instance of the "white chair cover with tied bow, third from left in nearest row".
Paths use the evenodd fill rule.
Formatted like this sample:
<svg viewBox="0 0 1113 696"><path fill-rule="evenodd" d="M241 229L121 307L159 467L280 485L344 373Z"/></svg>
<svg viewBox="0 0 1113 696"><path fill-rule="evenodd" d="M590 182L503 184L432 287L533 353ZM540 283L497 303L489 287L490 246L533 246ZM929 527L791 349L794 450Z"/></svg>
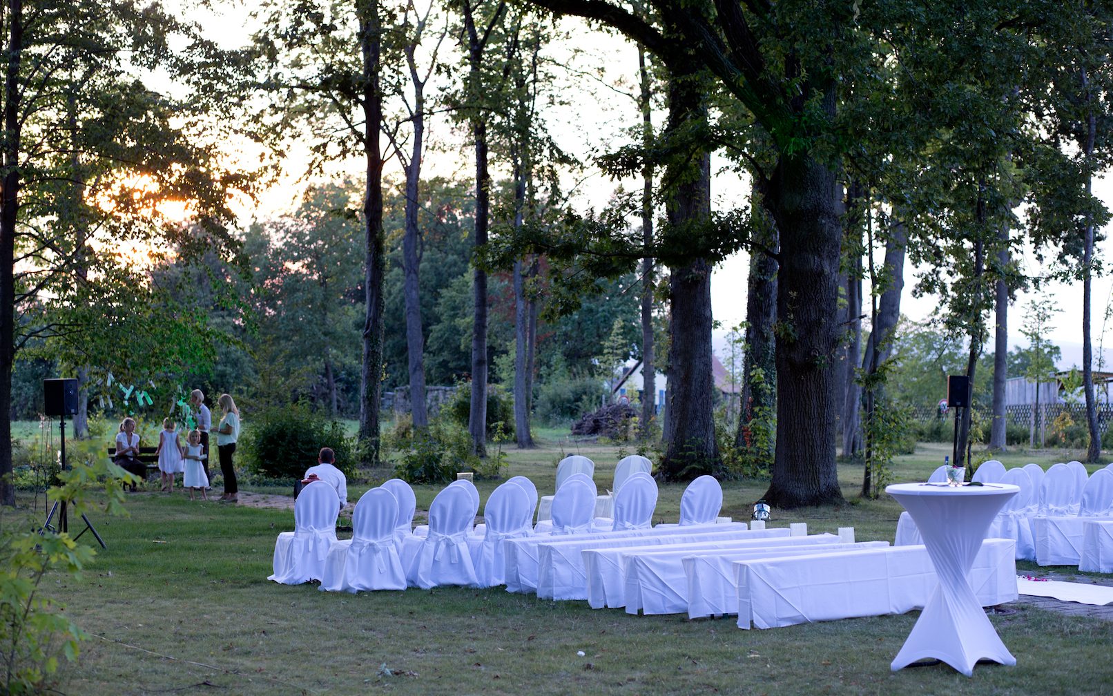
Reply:
<svg viewBox="0 0 1113 696"><path fill-rule="evenodd" d="M475 567L467 550L467 528L475 520L479 506L465 487L449 484L429 508L429 536L407 539L404 560L410 561L406 582L432 589L441 585L475 587Z"/></svg>

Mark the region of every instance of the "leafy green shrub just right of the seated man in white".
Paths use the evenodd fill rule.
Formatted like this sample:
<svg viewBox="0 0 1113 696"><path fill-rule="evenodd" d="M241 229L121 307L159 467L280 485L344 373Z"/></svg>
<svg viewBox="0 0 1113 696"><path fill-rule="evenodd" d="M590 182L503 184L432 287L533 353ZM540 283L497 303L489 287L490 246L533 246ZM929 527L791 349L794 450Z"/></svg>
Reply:
<svg viewBox="0 0 1113 696"><path fill-rule="evenodd" d="M433 419L429 428L396 427L387 438L400 455L394 476L408 483L449 483L461 471L485 471L467 429L451 419Z"/></svg>

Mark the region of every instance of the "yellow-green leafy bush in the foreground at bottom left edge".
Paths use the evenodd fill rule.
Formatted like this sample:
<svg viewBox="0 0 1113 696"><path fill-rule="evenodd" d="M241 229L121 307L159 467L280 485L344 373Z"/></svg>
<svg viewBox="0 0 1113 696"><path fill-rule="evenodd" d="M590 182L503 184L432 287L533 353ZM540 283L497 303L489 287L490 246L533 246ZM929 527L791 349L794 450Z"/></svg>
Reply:
<svg viewBox="0 0 1113 696"><path fill-rule="evenodd" d="M132 478L107 455L93 458L58 472L59 484L48 496L52 502L65 501L69 514L79 519L91 508L90 491L102 488L106 511L121 514L122 484ZM61 614L61 602L39 592L39 586L48 574L80 579L95 550L67 533L50 528L40 533L26 520L20 522L0 525L0 664L4 672L0 693L41 694L57 690L60 659L75 661L86 634Z"/></svg>

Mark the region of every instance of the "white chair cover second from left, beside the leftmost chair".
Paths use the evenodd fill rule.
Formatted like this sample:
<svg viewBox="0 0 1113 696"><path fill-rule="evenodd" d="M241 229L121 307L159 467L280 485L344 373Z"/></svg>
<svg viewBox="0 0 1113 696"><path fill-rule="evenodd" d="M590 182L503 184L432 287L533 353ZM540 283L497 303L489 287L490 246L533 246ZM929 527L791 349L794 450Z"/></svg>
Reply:
<svg viewBox="0 0 1113 696"><path fill-rule="evenodd" d="M359 497L352 512L352 538L333 542L321 589L332 592L404 590L394 541L398 503L385 488L373 488Z"/></svg>

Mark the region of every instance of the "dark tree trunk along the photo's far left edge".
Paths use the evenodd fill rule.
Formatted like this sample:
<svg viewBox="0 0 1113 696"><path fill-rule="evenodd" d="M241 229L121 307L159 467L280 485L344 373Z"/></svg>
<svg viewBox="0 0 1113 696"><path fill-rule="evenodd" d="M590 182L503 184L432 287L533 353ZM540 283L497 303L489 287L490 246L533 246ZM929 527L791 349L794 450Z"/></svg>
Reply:
<svg viewBox="0 0 1113 696"><path fill-rule="evenodd" d="M16 357L16 215L19 212L20 87L23 2L8 0L8 62L4 71L2 140L3 192L0 194L0 504L16 504L11 483L11 371Z"/></svg>

